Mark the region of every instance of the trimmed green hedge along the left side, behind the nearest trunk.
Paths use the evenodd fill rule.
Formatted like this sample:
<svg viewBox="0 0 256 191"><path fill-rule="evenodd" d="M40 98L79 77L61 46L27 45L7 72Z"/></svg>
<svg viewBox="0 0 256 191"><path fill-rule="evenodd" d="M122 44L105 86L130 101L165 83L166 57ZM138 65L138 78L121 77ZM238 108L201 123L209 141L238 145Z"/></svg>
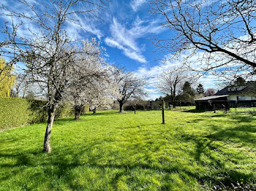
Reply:
<svg viewBox="0 0 256 191"><path fill-rule="evenodd" d="M0 98L0 130L46 121L48 108L45 104L45 101ZM71 105L61 104L57 109L56 118L68 117L73 114Z"/></svg>

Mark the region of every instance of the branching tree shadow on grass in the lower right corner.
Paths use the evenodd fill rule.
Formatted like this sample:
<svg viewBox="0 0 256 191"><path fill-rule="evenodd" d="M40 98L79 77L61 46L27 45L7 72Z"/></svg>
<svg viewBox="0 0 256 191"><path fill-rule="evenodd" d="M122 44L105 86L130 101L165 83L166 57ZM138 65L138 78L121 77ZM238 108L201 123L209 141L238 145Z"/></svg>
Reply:
<svg viewBox="0 0 256 191"><path fill-rule="evenodd" d="M239 130L239 128L233 128L232 130ZM220 140L224 141L230 138L230 136L237 136L236 133L229 134L225 132L225 130L219 130L217 133L213 133L210 136L193 136L188 135L186 133L182 133L181 139L183 141L192 141L195 144L195 152L194 158L197 163L201 166L207 166L211 171L210 174L206 174L205 176L197 176L195 177L201 182L201 184L209 183L213 184L220 190L229 190L233 189L234 185L239 182L247 182L249 184L255 184L255 175L252 173L244 174L241 171L236 171L236 168L228 168L227 160L221 157L217 157L218 155L214 155L218 152L220 155L226 155L225 150L221 148L219 144L214 144L214 141ZM241 142L252 141L252 136L240 136L238 137ZM204 156L204 159L202 157ZM205 160L207 158L207 160ZM241 158L241 156L232 155L230 156L230 161L236 164L236 161L243 160L245 158ZM244 184L244 187L248 185ZM254 185L255 186L255 185ZM252 187L254 187L252 186ZM251 186L249 186L251 187ZM241 187L243 189L243 187Z"/></svg>

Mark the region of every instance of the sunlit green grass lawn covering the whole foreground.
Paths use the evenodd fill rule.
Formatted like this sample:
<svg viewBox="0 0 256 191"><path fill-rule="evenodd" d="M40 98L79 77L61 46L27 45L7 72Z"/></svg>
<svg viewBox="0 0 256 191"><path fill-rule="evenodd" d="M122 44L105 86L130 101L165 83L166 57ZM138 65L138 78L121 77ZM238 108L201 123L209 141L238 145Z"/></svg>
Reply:
<svg viewBox="0 0 256 191"><path fill-rule="evenodd" d="M248 110L248 109L247 109ZM255 190L256 117L98 112L0 133L0 190Z"/></svg>

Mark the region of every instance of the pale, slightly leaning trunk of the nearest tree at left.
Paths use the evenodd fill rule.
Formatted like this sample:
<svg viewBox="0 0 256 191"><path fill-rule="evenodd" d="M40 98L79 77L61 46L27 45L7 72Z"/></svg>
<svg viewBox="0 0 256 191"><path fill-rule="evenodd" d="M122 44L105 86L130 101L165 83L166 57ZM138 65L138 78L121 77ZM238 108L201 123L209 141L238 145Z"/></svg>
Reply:
<svg viewBox="0 0 256 191"><path fill-rule="evenodd" d="M47 122L47 127L46 127L46 131L45 131L45 141L44 141L44 152L51 152L50 149L50 134L51 134L51 130L53 128L53 120L56 114L56 109L57 109L58 104L51 104L49 106L49 110L48 110L48 122Z"/></svg>

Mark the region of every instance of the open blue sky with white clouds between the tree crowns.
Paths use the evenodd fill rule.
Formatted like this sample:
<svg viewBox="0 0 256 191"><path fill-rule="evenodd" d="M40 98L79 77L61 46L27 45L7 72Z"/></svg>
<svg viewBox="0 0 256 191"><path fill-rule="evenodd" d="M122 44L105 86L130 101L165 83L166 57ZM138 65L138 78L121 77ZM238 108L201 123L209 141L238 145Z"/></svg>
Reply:
<svg viewBox="0 0 256 191"><path fill-rule="evenodd" d="M44 1L28 2L42 6ZM15 9L23 9L22 5L15 4L15 0L1 0L1 3ZM170 59L163 62L162 59L169 56L168 52L157 50L151 39L154 36L167 37L172 31L160 25L163 17L151 15L151 7L147 0L111 0L105 3L105 9L97 13L100 19L75 15L80 20L82 28L69 23L67 33L72 38L80 40L96 37L106 49L105 57L108 63L124 66L127 71L134 71L140 77L147 77L148 85L145 90L148 99L159 97L162 94L156 88L158 77L163 71L176 66L177 61ZM0 24L3 25L7 20L7 17L1 16ZM20 33L28 34L29 30L37 30L31 23L24 21L23 24ZM211 74L198 81L205 89L217 89L217 82L218 79Z"/></svg>

